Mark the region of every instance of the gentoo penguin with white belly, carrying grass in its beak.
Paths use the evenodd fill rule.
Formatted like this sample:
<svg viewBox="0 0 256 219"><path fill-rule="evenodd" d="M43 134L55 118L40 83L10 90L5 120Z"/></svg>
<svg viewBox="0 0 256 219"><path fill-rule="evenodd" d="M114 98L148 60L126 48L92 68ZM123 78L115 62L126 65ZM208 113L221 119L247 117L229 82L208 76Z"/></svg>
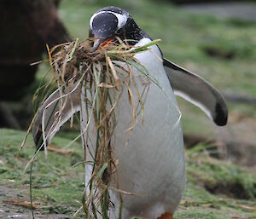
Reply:
<svg viewBox="0 0 256 219"><path fill-rule="evenodd" d="M104 42L113 37L119 37L134 47L152 41L151 37L137 26L130 14L116 7L103 8L92 15L89 37L98 38L94 42L94 49L100 49ZM175 95L180 95L200 107L217 125L227 123L228 110L224 98L217 89L195 73L166 60L157 45L152 45L148 50L136 54L135 58L158 84L149 85L143 107L143 123L137 122L131 132L128 145L126 145L128 135L126 130L131 124L131 106L127 95L121 96L116 107L118 122L114 130L113 155L119 160L118 176L116 176L119 189L139 194L123 195L122 218L141 216L148 219L171 219L182 199L186 184L183 130ZM143 85L139 83L136 69L134 74L138 89L142 89ZM88 114L85 112L85 102L81 101L84 99L79 98L77 89L71 90L68 94L65 108L61 113L59 112L61 114L59 122L55 124L54 119L50 118L50 115L55 115L59 110L58 107L53 107L52 103L68 91L70 91L68 88L56 90L39 109L32 129L36 145L42 135L42 124L46 124L48 120L48 127L53 129L50 130L48 127L43 129L46 136L44 147L74 112L81 112L81 130L84 130L86 126L84 121L87 121ZM90 130L90 141L94 142L95 138L95 131ZM93 155L88 153L87 159L93 159ZM90 168L89 166L87 173L90 173ZM86 177L90 179L90 174ZM115 185L113 182L113 187ZM109 218L118 218L119 193L113 190L109 195L113 203L113 209L109 210Z"/></svg>

